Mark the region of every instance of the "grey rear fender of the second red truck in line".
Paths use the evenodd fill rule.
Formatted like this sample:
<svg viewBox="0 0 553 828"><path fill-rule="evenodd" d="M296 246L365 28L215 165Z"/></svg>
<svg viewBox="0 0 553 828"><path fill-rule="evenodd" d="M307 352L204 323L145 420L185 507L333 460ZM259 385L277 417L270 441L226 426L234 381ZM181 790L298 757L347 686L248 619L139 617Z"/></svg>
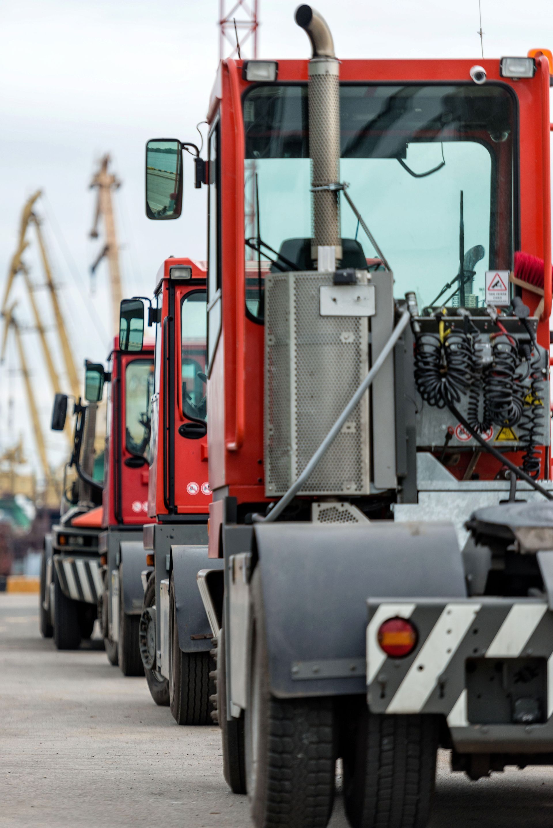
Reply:
<svg viewBox="0 0 553 828"><path fill-rule="evenodd" d="M178 643L182 652L211 650L211 627L196 581L202 569L222 570L222 558L208 558L207 546L172 546L171 569L177 599Z"/></svg>

